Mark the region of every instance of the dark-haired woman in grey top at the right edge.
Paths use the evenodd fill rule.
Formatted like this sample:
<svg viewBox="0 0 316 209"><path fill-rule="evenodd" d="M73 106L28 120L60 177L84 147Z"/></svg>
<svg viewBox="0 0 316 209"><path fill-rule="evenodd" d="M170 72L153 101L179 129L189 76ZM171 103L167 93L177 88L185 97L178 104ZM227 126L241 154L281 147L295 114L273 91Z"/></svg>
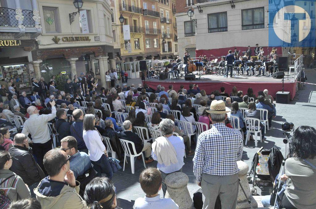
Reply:
<svg viewBox="0 0 316 209"><path fill-rule="evenodd" d="M298 127L289 144L289 158L285 161L286 190L283 208L314 209L316 206L316 130Z"/></svg>

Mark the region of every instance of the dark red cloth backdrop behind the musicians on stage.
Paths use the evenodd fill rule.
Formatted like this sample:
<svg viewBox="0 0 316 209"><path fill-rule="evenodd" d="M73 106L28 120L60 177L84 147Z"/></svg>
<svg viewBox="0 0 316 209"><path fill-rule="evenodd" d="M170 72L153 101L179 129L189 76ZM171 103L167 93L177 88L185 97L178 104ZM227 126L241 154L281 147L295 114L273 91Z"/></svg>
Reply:
<svg viewBox="0 0 316 209"><path fill-rule="evenodd" d="M261 47L261 46L259 46ZM229 48L216 48L216 49L200 49L200 50L195 50L195 56L199 57L201 55L206 55L206 57L221 57L221 56L226 56L228 54L229 50L232 50L232 52L234 53L234 49L237 48L237 51L240 50L239 55L242 56L242 52L247 51L248 47L229 47ZM251 51L252 51L252 56L255 56L254 54L254 49L256 47L250 47ZM263 51L264 51L264 56L269 54L272 50L272 47L262 47ZM276 47L276 54L282 54L282 47ZM214 56L211 56L214 55Z"/></svg>

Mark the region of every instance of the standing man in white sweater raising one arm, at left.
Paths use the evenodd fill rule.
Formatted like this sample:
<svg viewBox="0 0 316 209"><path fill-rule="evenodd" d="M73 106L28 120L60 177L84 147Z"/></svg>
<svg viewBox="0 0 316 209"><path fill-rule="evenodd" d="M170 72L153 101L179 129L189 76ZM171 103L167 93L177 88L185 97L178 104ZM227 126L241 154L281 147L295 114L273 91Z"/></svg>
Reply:
<svg viewBox="0 0 316 209"><path fill-rule="evenodd" d="M48 115L40 115L39 110L36 107L29 106L27 108L27 113L30 117L24 122L21 132L26 136L31 134L33 154L36 156L37 162L43 170L45 169L43 165L44 155L52 149L51 135L47 123L56 117L55 101L53 100L52 102L49 102L49 104L52 106L52 113Z"/></svg>

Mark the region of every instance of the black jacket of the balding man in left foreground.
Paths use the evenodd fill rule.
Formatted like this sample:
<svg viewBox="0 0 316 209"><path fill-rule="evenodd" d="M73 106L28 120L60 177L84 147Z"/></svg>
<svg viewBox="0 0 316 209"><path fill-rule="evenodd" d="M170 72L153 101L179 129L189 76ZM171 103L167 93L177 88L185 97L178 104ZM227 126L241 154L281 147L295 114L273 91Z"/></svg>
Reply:
<svg viewBox="0 0 316 209"><path fill-rule="evenodd" d="M31 147L27 149L14 145L9 149L9 153L13 157L10 170L21 176L24 183L28 186L40 182L40 180L45 178L44 172L33 157Z"/></svg>

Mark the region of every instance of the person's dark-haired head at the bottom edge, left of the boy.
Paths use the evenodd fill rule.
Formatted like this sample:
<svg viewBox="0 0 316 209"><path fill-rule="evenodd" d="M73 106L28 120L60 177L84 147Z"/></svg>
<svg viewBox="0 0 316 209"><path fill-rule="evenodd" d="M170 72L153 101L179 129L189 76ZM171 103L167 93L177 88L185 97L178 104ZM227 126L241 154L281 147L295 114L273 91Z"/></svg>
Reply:
<svg viewBox="0 0 316 209"><path fill-rule="evenodd" d="M83 198L89 209L121 209L117 207L115 187L109 178L92 179L84 190Z"/></svg>

